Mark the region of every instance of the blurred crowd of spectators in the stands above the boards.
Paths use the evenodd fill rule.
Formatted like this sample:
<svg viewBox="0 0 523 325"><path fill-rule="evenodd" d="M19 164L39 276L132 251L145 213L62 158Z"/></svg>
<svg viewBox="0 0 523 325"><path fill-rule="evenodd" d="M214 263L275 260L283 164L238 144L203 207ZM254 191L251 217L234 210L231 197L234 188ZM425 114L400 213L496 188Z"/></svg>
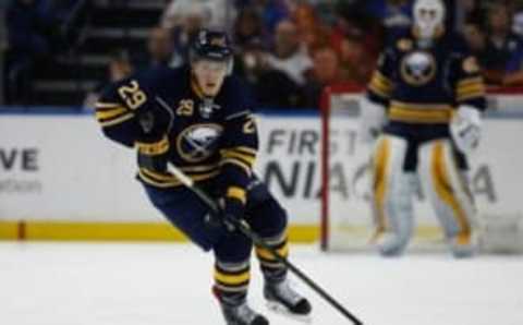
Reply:
<svg viewBox="0 0 523 325"><path fill-rule="evenodd" d="M49 7L51 2L53 9ZM15 59L8 56L7 60L8 97L25 96L24 83L31 82L32 64L74 44L78 13L86 9L83 2L12 1L7 27L9 52L14 52ZM210 27L230 32L236 51L234 70L243 76L262 106L315 108L326 85L366 86L387 37L411 26L412 2L166 1L158 25L150 26L144 56L134 60L121 49L108 49L110 76L100 81L100 85L139 69L175 68L186 63L188 44L195 32ZM462 33L483 65L487 83L522 86L523 0L446 2L447 28ZM97 91L94 89L94 94Z"/></svg>

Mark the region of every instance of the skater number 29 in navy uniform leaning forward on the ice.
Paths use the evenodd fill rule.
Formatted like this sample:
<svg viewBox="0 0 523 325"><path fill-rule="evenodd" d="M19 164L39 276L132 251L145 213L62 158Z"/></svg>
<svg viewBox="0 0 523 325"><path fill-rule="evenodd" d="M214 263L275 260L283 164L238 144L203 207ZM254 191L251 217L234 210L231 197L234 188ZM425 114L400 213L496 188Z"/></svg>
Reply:
<svg viewBox="0 0 523 325"><path fill-rule="evenodd" d="M231 75L232 49L220 32L200 31L190 67L133 75L105 91L96 118L105 135L137 152L137 179L153 203L177 228L215 255L215 285L226 323L265 325L246 303L253 243L222 227L196 195L167 171L173 164L223 204L228 217L244 218L252 230L288 256L287 215L253 172L258 149L253 103ZM290 288L287 268L255 248L271 306L306 316L309 302Z"/></svg>

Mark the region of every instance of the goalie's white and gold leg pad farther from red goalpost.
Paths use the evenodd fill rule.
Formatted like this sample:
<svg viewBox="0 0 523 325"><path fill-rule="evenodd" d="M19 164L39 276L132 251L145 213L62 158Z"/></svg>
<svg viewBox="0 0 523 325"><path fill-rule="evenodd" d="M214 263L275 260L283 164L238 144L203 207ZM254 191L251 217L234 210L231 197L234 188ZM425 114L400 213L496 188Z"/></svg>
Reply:
<svg viewBox="0 0 523 325"><path fill-rule="evenodd" d="M466 174L457 164L448 140L428 142L419 147L418 173L423 190L455 256L470 256L476 250L475 207Z"/></svg>

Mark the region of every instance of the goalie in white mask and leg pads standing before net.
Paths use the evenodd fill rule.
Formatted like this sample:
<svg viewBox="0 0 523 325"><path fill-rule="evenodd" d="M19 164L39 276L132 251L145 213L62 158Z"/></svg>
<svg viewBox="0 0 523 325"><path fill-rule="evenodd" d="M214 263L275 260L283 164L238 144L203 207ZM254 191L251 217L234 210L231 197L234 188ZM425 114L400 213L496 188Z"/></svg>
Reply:
<svg viewBox="0 0 523 325"><path fill-rule="evenodd" d="M476 59L445 31L445 14L440 0L415 1L412 29L386 47L368 86L369 108L379 106L384 117L369 123L382 127L373 209L384 255L401 254L412 237L416 171L453 254L470 256L476 249L465 155L479 141L485 86Z"/></svg>

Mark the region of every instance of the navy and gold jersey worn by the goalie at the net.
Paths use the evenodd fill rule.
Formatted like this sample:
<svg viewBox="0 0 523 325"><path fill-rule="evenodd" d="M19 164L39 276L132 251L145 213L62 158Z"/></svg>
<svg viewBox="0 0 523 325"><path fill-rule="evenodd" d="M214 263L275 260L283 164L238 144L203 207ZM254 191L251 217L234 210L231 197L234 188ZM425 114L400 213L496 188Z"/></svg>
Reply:
<svg viewBox="0 0 523 325"><path fill-rule="evenodd" d="M385 132L416 134L421 140L449 136L448 123L455 108L485 109L479 65L460 35L442 34L431 46L421 46L414 33L389 40L367 97L387 109Z"/></svg>

